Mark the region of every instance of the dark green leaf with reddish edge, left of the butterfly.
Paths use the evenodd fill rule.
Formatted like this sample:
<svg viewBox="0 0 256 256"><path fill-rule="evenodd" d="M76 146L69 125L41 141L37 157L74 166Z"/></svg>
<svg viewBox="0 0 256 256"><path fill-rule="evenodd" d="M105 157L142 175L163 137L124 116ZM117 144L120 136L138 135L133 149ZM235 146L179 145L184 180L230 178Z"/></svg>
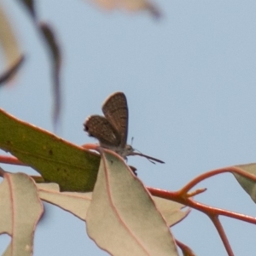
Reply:
<svg viewBox="0 0 256 256"><path fill-rule="evenodd" d="M0 109L0 148L38 171L62 191L91 191L100 157Z"/></svg>

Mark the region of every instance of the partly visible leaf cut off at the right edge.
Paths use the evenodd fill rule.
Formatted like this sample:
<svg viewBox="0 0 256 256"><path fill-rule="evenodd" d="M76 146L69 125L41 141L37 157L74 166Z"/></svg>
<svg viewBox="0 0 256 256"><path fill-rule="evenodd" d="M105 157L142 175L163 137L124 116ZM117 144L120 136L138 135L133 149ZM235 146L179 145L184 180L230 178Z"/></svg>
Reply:
<svg viewBox="0 0 256 256"><path fill-rule="evenodd" d="M240 168L244 172L253 174L256 177L256 164L253 163L236 167ZM238 183L240 183L241 187L246 190L248 195L250 195L253 201L256 203L256 182L248 177L242 177L235 172L233 172L233 174L236 177Z"/></svg>

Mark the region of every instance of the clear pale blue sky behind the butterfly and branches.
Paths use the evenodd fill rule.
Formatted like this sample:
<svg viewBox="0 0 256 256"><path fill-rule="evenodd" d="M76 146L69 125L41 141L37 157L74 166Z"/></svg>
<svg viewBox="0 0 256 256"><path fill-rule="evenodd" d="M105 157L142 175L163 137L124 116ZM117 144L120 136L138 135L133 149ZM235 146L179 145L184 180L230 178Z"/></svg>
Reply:
<svg viewBox="0 0 256 256"><path fill-rule="evenodd" d="M84 119L102 113L105 98L120 90L130 110L128 143L134 137L133 147L166 161L152 165L129 158L146 185L174 191L203 172L256 162L255 1L158 0L160 20L146 12L104 12L85 1L35 2L63 53L59 136L79 145L95 142L83 131ZM15 84L1 90L0 107L53 131L47 48L19 1L1 3L26 62ZM205 187L196 200L255 216L253 201L230 174L198 186ZM35 256L108 255L88 238L78 218L49 205L44 216L35 235ZM252 255L256 227L221 221L235 255ZM226 255L201 212L192 211L172 232L197 255ZM0 236L0 253L7 243L8 236Z"/></svg>

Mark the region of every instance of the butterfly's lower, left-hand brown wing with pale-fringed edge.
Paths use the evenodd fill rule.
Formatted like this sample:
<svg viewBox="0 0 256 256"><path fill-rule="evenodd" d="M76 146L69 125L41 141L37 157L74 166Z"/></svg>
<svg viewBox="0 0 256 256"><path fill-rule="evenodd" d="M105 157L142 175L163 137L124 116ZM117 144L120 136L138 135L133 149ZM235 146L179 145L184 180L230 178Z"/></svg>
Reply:
<svg viewBox="0 0 256 256"><path fill-rule="evenodd" d="M114 130L113 125L109 123L108 119L100 115L91 115L86 119L84 131L87 131L89 136L96 137L102 147L118 147L120 144L119 134Z"/></svg>

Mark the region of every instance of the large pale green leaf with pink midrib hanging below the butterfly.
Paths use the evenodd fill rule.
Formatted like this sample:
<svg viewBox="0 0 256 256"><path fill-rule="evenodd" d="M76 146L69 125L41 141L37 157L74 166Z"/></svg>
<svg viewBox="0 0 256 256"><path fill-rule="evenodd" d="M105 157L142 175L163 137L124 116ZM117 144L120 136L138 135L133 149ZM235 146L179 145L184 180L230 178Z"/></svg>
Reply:
<svg viewBox="0 0 256 256"><path fill-rule="evenodd" d="M177 255L148 190L117 154L104 150L87 212L88 235L111 255Z"/></svg>

